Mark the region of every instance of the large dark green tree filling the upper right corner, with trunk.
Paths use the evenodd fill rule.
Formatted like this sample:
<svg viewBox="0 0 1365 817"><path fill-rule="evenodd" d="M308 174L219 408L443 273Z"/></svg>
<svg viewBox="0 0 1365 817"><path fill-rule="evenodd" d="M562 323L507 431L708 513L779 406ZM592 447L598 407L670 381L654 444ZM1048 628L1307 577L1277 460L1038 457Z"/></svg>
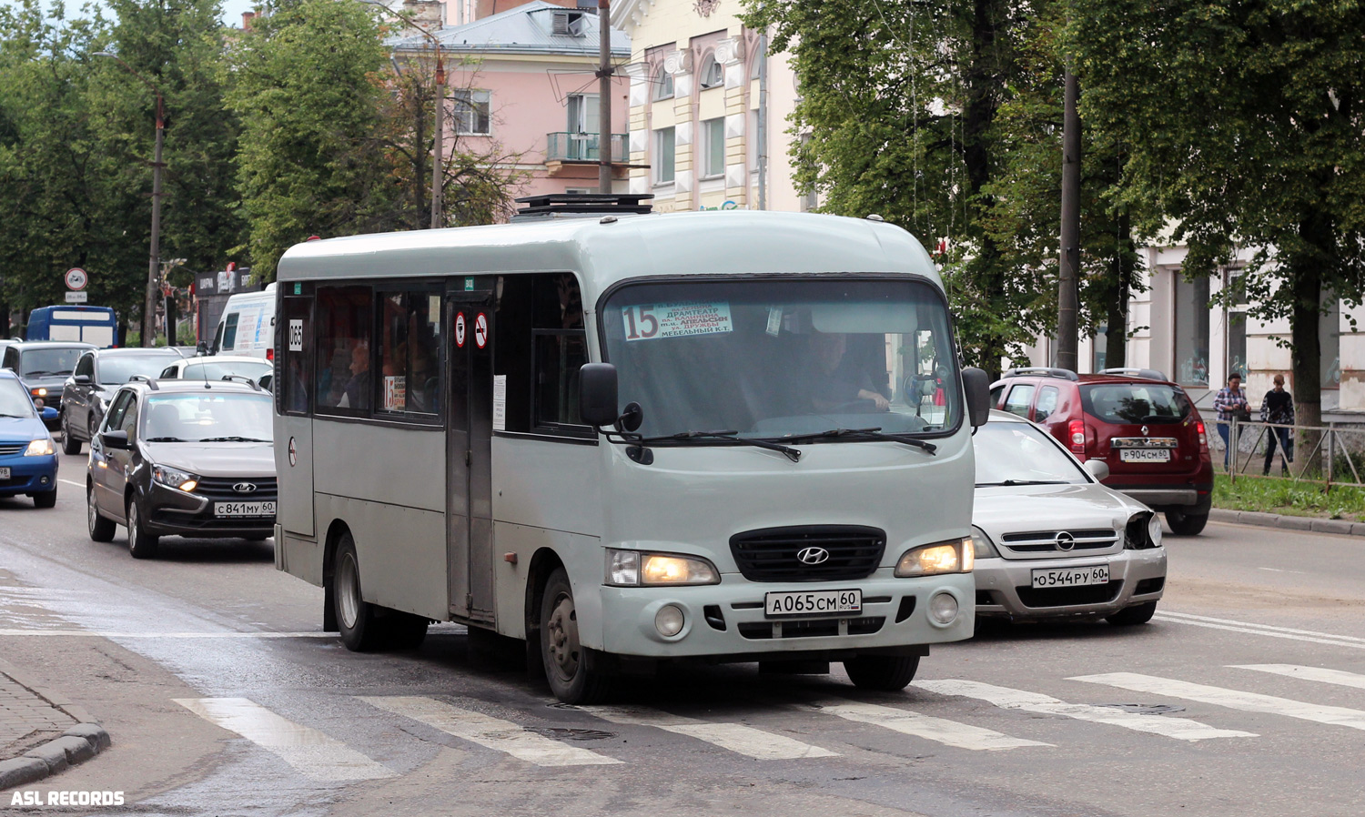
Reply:
<svg viewBox="0 0 1365 817"><path fill-rule="evenodd" d="M1289 318L1298 419L1321 417L1325 297L1365 289L1365 7L1073 0L1082 117L1126 136L1126 196L1209 274L1235 247L1252 314Z"/></svg>

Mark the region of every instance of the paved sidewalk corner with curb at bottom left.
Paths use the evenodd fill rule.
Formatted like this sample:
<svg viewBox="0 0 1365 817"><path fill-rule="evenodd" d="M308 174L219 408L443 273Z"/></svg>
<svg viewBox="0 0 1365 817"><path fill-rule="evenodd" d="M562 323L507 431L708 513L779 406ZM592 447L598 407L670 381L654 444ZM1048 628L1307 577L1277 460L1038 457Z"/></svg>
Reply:
<svg viewBox="0 0 1365 817"><path fill-rule="evenodd" d="M108 747L108 732L85 709L0 660L0 790L41 780Z"/></svg>

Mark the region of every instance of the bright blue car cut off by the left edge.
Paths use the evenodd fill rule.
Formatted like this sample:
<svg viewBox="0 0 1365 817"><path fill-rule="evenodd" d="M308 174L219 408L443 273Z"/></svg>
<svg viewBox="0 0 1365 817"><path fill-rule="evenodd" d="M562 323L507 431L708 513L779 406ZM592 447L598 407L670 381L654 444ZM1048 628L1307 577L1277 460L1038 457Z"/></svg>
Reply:
<svg viewBox="0 0 1365 817"><path fill-rule="evenodd" d="M0 496L27 494L38 507L57 503L57 449L44 426L56 413L34 404L12 371L0 371Z"/></svg>

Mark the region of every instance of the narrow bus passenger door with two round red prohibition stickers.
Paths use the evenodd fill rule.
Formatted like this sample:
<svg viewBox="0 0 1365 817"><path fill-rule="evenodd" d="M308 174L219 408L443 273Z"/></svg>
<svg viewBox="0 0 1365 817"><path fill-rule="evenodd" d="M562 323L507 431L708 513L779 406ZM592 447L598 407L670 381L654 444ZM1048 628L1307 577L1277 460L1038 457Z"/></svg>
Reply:
<svg viewBox="0 0 1365 817"><path fill-rule="evenodd" d="M459 278L456 280L460 281ZM475 278L478 282L491 278ZM446 520L450 612L494 621L493 604L493 299L457 292L446 304L450 400Z"/></svg>

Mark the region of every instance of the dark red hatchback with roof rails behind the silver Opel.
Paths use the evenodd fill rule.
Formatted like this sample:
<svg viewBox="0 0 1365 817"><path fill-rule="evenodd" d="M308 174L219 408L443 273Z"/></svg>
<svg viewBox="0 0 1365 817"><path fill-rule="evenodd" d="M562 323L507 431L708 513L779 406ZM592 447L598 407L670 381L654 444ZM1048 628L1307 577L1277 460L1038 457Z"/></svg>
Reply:
<svg viewBox="0 0 1365 817"><path fill-rule="evenodd" d="M1208 432L1185 390L1160 372L1016 368L991 386L991 398L1047 428L1077 458L1103 461L1102 481L1164 513L1171 532L1193 536L1208 522Z"/></svg>

